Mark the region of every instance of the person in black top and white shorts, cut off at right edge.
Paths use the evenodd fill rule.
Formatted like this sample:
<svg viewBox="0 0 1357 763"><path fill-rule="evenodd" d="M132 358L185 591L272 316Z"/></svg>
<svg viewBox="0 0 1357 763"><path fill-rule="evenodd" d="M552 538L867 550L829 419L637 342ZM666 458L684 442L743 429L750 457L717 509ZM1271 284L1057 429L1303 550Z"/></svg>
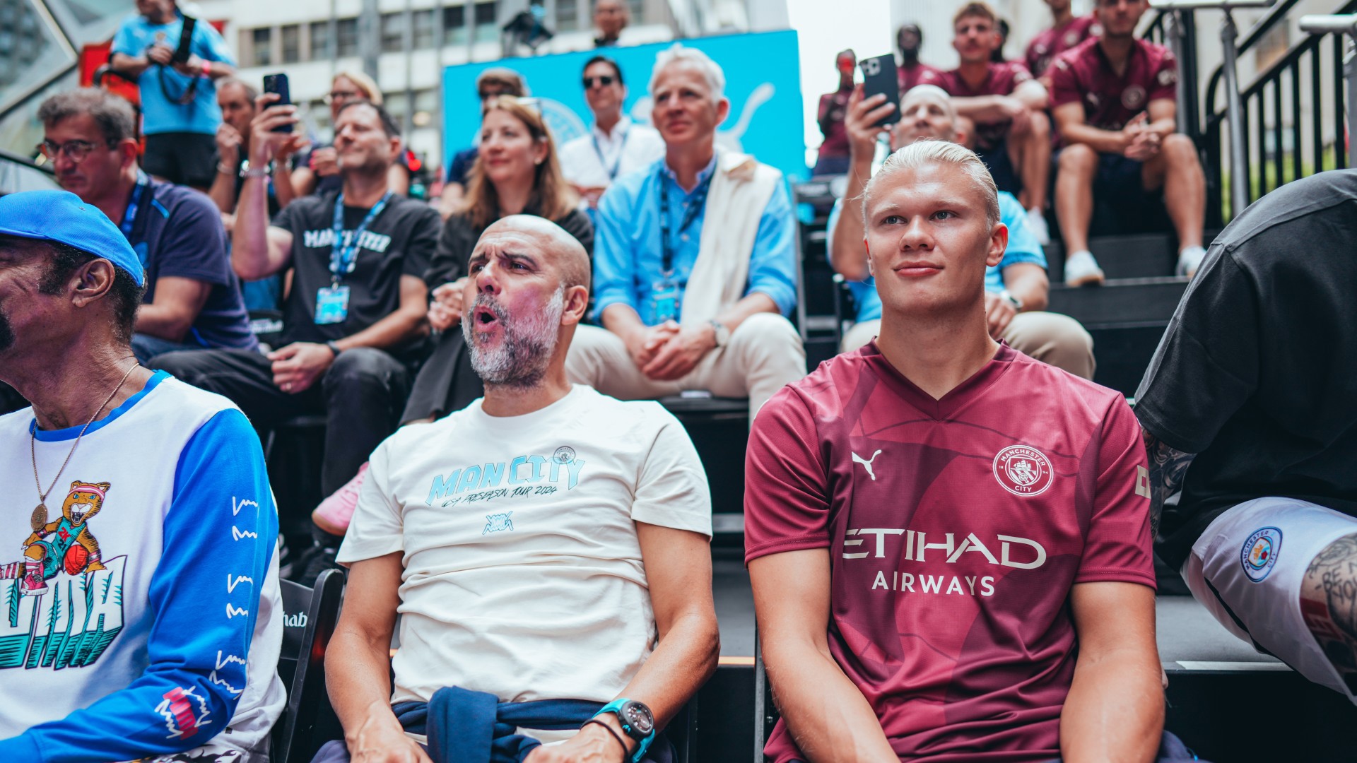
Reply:
<svg viewBox="0 0 1357 763"><path fill-rule="evenodd" d="M1354 236L1354 170L1254 202L1212 243L1136 392L1159 554L1227 630L1352 702Z"/></svg>

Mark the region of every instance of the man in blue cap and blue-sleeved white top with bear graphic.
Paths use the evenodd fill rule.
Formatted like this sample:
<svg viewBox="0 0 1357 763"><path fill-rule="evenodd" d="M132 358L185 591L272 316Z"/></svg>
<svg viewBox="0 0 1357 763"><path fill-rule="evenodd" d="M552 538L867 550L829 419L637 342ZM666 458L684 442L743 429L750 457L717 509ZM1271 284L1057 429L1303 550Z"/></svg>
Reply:
<svg viewBox="0 0 1357 763"><path fill-rule="evenodd" d="M0 198L0 377L33 401L0 417L0 760L267 763L288 699L259 436L133 360L147 282L95 205Z"/></svg>

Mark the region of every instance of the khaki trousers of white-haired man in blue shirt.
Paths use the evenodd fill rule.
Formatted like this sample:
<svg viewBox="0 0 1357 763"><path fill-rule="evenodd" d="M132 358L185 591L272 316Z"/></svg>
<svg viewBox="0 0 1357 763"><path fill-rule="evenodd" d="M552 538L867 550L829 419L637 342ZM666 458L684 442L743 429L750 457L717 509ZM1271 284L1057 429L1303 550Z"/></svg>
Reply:
<svg viewBox="0 0 1357 763"><path fill-rule="evenodd" d="M756 312L730 333L730 342L707 353L687 376L673 382L646 377L622 338L597 326L579 326L566 356L566 375L623 401L707 390L718 398L749 398L749 421L783 386L806 375L806 349L791 323Z"/></svg>

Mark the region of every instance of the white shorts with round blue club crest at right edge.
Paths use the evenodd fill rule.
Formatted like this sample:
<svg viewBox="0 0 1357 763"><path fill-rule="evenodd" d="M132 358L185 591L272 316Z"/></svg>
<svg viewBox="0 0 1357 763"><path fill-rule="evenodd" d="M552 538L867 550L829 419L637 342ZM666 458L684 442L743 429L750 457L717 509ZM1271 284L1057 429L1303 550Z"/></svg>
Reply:
<svg viewBox="0 0 1357 763"><path fill-rule="evenodd" d="M1310 562L1357 532L1357 517L1295 498L1255 498L1216 517L1193 543L1182 576L1231 633L1357 703L1301 618Z"/></svg>

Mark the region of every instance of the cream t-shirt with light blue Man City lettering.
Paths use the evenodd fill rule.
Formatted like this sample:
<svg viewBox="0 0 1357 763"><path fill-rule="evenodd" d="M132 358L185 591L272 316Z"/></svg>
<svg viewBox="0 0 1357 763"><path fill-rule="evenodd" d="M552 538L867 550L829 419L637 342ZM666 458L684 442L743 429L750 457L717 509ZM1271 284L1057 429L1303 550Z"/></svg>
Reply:
<svg viewBox="0 0 1357 763"><path fill-rule="evenodd" d="M480 403L377 447L339 548L403 551L392 702L608 702L655 645L635 523L711 535L697 452L660 403L585 386L527 415Z"/></svg>

